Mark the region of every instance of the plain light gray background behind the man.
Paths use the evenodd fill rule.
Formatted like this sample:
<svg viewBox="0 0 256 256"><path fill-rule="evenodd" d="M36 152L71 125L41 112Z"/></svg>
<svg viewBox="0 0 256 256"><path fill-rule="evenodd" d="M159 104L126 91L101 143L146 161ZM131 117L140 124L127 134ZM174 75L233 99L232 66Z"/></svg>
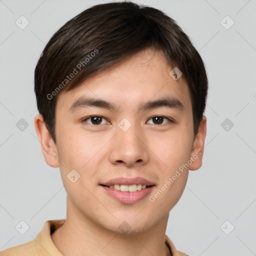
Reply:
<svg viewBox="0 0 256 256"><path fill-rule="evenodd" d="M189 171L166 234L190 256L256 255L256 0L135 2L177 21L209 78L203 165ZM59 169L44 162L33 124L33 71L51 35L97 3L103 1L0 0L0 250L33 239L48 219L65 218ZM21 15L29 21L24 29L15 24ZM234 21L229 29L226 15ZM29 226L23 235L15 229L21 220Z"/></svg>

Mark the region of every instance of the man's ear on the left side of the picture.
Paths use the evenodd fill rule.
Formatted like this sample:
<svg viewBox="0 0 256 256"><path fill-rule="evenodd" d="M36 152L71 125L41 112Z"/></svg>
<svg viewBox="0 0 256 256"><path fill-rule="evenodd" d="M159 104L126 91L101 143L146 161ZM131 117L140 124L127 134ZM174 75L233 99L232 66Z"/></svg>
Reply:
<svg viewBox="0 0 256 256"><path fill-rule="evenodd" d="M41 144L44 160L51 167L58 167L57 147L54 143L41 114L34 117L34 126Z"/></svg>

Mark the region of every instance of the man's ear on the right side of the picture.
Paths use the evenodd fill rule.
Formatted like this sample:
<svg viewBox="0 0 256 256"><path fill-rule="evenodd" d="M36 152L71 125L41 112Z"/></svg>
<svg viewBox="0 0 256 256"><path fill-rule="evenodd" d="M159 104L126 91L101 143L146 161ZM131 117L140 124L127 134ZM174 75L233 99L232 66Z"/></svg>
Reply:
<svg viewBox="0 0 256 256"><path fill-rule="evenodd" d="M193 148L191 150L190 160L192 163L189 170L197 170L202 165L202 155L204 147L204 139L206 135L206 117L203 115L200 122L198 132L194 138Z"/></svg>

